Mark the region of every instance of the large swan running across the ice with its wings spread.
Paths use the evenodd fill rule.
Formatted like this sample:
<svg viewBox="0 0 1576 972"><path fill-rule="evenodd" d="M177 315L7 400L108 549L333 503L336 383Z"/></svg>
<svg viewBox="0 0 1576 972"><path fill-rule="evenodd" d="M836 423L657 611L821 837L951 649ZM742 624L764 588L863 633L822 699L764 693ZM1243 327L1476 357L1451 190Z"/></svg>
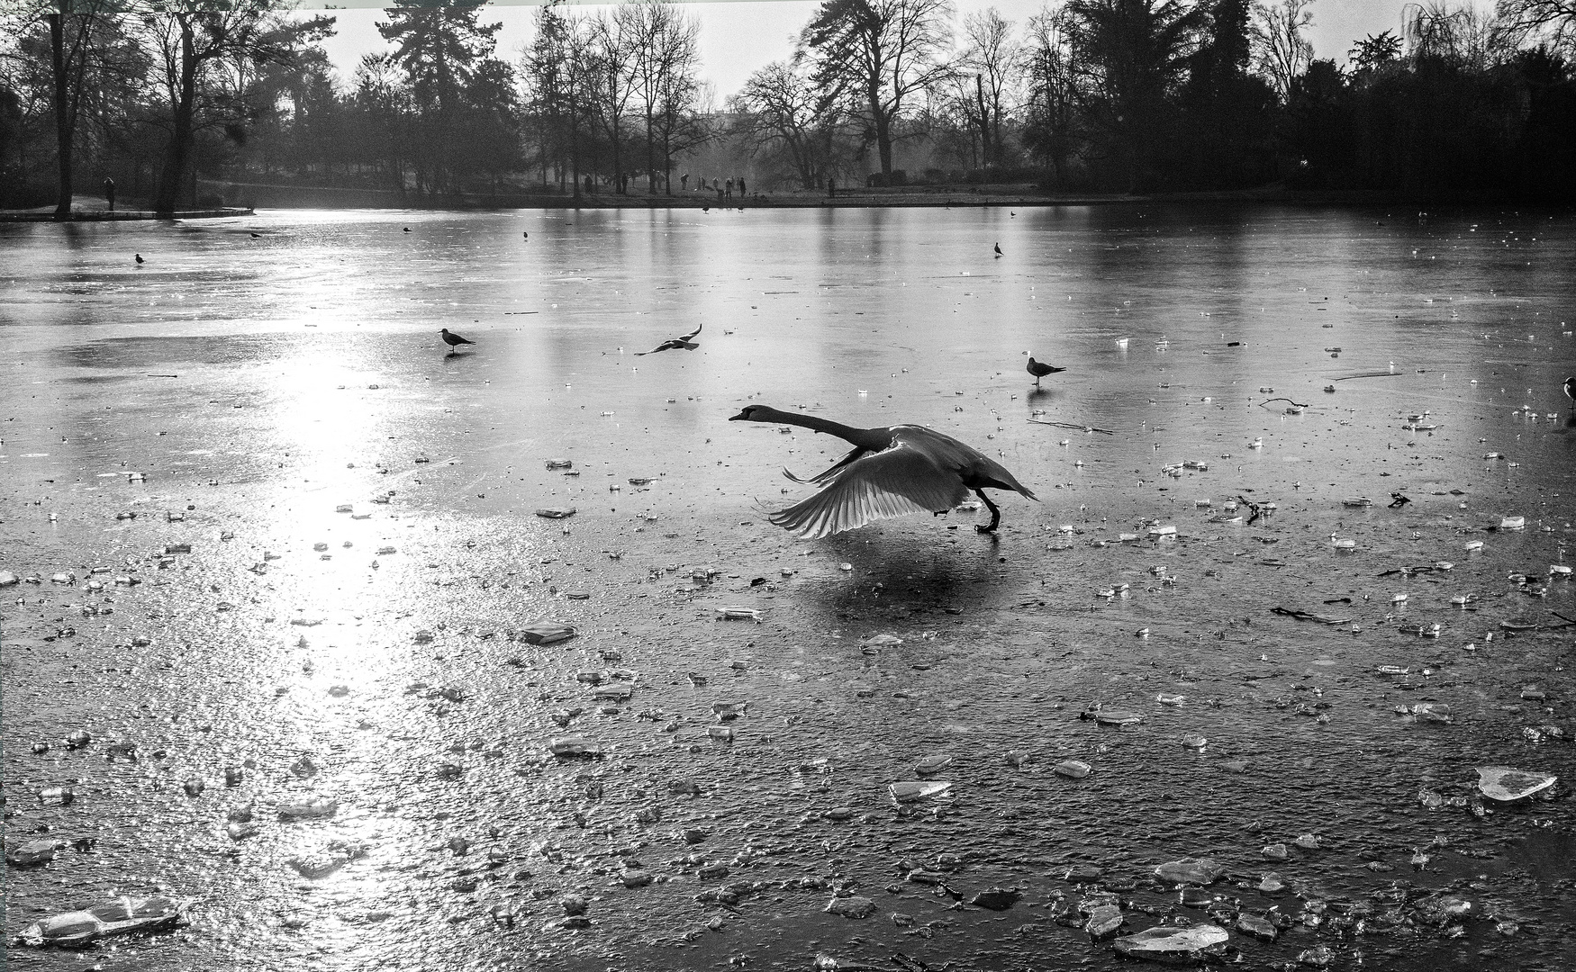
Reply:
<svg viewBox="0 0 1576 972"><path fill-rule="evenodd" d="M990 509L990 525L976 523L974 529L991 532L1001 521L1001 510L982 490L1015 490L1035 499L996 460L924 425L854 428L766 405L747 405L728 421L799 425L853 443L853 452L813 479L799 479L783 469L794 482L824 487L815 496L768 517L799 537L824 537L906 514L939 517L963 503L971 490Z"/></svg>

